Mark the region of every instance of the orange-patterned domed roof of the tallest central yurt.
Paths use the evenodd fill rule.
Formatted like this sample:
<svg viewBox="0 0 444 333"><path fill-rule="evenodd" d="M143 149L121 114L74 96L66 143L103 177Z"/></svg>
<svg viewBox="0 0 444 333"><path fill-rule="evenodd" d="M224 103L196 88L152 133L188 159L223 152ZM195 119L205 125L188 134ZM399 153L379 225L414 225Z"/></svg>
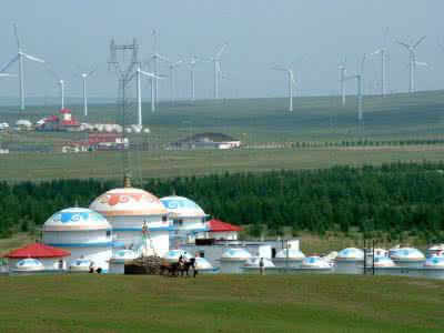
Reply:
<svg viewBox="0 0 444 333"><path fill-rule="evenodd" d="M134 188L110 190L97 198L90 209L104 216L164 215L168 213L159 198Z"/></svg>

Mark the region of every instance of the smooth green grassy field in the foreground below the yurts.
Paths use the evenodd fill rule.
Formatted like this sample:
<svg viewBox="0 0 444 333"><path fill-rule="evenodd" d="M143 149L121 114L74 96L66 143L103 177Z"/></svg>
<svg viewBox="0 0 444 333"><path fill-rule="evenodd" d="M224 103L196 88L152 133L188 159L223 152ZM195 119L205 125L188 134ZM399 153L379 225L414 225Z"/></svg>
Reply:
<svg viewBox="0 0 444 333"><path fill-rule="evenodd" d="M444 282L383 276L0 279L1 332L443 332Z"/></svg>

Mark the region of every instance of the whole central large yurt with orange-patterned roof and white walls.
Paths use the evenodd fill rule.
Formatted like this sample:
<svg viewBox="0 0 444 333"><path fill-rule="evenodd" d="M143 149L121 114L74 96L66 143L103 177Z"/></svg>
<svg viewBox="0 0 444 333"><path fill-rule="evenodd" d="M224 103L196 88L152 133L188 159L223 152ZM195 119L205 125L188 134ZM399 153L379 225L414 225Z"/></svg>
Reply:
<svg viewBox="0 0 444 333"><path fill-rule="evenodd" d="M168 211L155 195L131 188L129 178L124 183L97 198L90 209L108 219L117 241L125 248L163 256L170 245Z"/></svg>

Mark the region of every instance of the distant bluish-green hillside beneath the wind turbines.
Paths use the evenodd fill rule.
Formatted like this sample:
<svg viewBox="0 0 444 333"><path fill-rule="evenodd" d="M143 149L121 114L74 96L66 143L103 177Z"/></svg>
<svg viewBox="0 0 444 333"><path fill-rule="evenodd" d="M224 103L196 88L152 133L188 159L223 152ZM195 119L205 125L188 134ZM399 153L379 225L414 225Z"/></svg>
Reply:
<svg viewBox="0 0 444 333"><path fill-rule="evenodd" d="M405 138L443 138L444 92L393 94L384 99L364 97L364 127L356 121L356 99L349 97L343 107L337 97L295 98L294 111L287 112L287 99L240 99L161 103L151 113L143 104L144 124L152 138L174 141L190 133L221 131L248 143L283 141L341 141L372 138L397 140ZM130 108L129 122L135 123L135 104ZM81 121L82 107L72 105ZM0 121L20 118L38 120L56 113L54 107L0 108ZM89 122L121 122L115 104L92 104Z"/></svg>

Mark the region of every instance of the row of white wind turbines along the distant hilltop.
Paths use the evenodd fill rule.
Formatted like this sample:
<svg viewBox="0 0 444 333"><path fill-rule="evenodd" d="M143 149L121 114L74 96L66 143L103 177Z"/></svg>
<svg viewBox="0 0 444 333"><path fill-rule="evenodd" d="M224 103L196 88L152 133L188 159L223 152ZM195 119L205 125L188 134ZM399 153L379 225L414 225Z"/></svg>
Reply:
<svg viewBox="0 0 444 333"><path fill-rule="evenodd" d="M16 36L18 52L13 54L13 58L0 70L0 78L4 77L16 77L13 74L6 73L14 63L19 63L19 82L20 82L20 109L24 110L24 78L23 78L23 61L32 61L39 63L46 63L44 60L37 58L34 56L30 56L22 51L22 47L20 43L19 34L17 31L17 26L13 26L13 31ZM158 108L159 103L159 80L163 80L165 77L160 74L159 67L160 62L164 63L169 69L169 78L170 78L170 90L171 90L171 100L173 103L175 102L175 71L179 65L185 64L190 70L190 83L191 83L191 100L192 102L195 101L195 68L201 65L202 61L211 61L213 67L213 98L214 100L219 99L219 79L221 75L221 67L220 67L220 58L225 51L228 43L225 42L219 51L212 57L195 57L194 54L190 54L189 61L178 60L175 62L169 60L167 57L162 56L158 51L157 47L157 36L155 31L153 30L153 41L154 41L154 52L153 54L143 62L139 62L137 65L137 100L138 100L138 123L142 124L142 89L141 89L141 81L142 77L149 79L149 83L151 85L151 111L154 112ZM381 59L381 97L385 94L385 82L386 82L386 39L389 34L389 28L385 31L383 47L369 56L380 56ZM424 41L425 36L418 39L414 43L405 43L402 41L396 41L402 48L404 48L408 52L408 68L410 68L410 82L408 82L408 91L412 93L414 92L414 73L417 67L426 67L425 62L416 61L415 50L416 48ZM443 48L444 50L444 48ZM347 73L347 63L346 59L343 63L339 67L340 70L340 83L341 83L341 95L342 95L342 103L345 105L346 103L346 95L345 95L345 82L356 80L357 83L357 121L361 123L363 121L363 110L362 110L362 81L364 75L364 64L367 54L364 53L362 61L361 61L361 70L355 72L354 74ZM148 67L148 69L144 69ZM153 70L151 70L151 67ZM61 108L64 108L64 85L65 81L58 75L51 68L47 65L49 72L57 79L59 90L60 90L60 100L61 100ZM285 67L271 67L272 70L281 71L286 74L286 79L289 82L289 111L293 111L293 89L295 85L295 78L294 78L294 70L292 68ZM83 72L80 74L83 83L83 109L84 109L84 117L88 117L88 97L87 97L87 81L88 78L93 74L95 70L91 70L89 72Z"/></svg>

